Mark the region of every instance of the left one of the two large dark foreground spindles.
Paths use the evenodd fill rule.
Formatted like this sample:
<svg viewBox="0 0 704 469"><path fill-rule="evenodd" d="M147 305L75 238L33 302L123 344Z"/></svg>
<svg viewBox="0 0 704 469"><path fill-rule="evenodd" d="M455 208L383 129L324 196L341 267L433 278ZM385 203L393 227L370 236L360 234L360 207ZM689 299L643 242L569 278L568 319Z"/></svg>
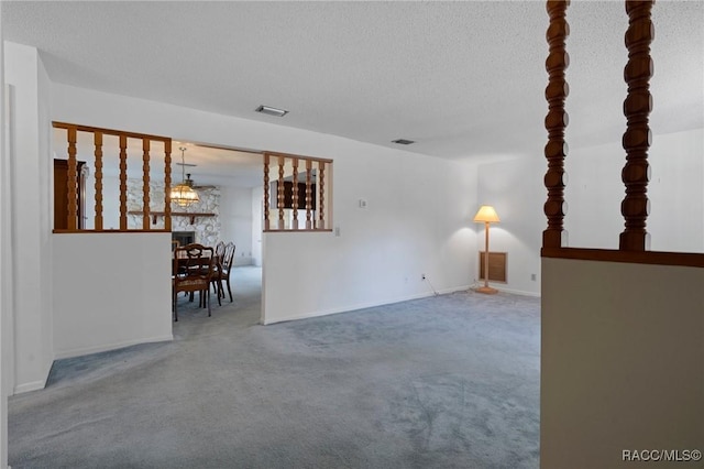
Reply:
<svg viewBox="0 0 704 469"><path fill-rule="evenodd" d="M563 219L566 214L564 157L568 154L564 129L568 126L569 117L564 111L564 100L569 94L569 87L564 79L564 70L570 64L570 56L565 51L564 42L570 34L570 25L565 20L569 4L569 0L548 1L547 3L550 17L550 25L546 34L550 46L546 59L549 79L546 88L548 144L544 149L544 155L548 160L548 172L544 176L544 185L548 189L548 200L543 210L548 217L548 229L542 232L543 248L561 248L566 244L566 231L563 229Z"/></svg>

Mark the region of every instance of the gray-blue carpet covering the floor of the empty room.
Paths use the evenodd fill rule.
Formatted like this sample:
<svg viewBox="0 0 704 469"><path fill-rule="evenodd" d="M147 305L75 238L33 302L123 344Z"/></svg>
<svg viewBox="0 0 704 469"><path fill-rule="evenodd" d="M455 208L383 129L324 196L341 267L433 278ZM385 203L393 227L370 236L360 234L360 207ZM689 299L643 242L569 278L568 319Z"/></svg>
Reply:
<svg viewBox="0 0 704 469"><path fill-rule="evenodd" d="M539 299L454 293L260 326L180 299L173 342L57 361L10 399L19 468L537 468Z"/></svg>

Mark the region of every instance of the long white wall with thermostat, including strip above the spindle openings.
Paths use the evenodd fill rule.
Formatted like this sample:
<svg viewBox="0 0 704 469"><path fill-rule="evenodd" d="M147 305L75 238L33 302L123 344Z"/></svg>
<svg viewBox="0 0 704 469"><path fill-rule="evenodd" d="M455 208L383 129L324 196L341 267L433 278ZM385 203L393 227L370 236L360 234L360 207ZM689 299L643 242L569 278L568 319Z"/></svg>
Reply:
<svg viewBox="0 0 704 469"><path fill-rule="evenodd" d="M431 294L421 273L439 291L471 282L472 166L58 84L53 103L54 119L66 122L334 160L333 220L341 236L264 238L267 323ZM367 209L358 208L360 198Z"/></svg>

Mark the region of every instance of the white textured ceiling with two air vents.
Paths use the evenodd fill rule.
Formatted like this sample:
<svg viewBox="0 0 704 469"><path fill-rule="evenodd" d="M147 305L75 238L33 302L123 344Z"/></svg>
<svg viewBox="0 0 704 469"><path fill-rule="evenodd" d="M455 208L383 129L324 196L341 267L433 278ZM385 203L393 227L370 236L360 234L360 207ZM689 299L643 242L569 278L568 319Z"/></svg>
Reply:
<svg viewBox="0 0 704 469"><path fill-rule="evenodd" d="M542 152L543 2L11 2L52 80L447 159ZM620 141L623 2L568 12L571 146ZM704 2L653 7L656 133L704 127ZM288 109L284 118L254 112ZM218 143L218 142L211 142Z"/></svg>

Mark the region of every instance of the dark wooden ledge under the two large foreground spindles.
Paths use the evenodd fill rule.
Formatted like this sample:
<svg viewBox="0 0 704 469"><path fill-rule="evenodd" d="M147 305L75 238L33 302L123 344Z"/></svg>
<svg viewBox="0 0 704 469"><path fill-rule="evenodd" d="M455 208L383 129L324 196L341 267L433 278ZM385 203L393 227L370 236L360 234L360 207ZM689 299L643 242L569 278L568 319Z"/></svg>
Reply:
<svg viewBox="0 0 704 469"><path fill-rule="evenodd" d="M586 248L542 248L542 258L596 262L704 268L704 253L662 251L617 251Z"/></svg>

